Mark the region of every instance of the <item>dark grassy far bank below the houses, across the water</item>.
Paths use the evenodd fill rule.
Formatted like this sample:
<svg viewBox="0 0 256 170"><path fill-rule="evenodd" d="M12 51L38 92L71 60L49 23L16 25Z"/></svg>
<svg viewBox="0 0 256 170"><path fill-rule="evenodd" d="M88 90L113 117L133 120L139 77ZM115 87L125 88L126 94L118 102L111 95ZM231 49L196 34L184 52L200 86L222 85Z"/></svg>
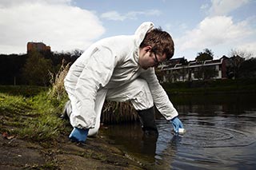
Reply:
<svg viewBox="0 0 256 170"><path fill-rule="evenodd" d="M256 79L186 81L162 84L169 94L256 93Z"/></svg>

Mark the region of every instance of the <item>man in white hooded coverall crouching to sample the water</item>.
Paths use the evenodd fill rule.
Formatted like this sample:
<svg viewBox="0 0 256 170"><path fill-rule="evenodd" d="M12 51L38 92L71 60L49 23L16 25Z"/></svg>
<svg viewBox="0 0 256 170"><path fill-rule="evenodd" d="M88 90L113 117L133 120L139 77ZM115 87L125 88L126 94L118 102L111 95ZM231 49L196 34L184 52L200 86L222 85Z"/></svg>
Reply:
<svg viewBox="0 0 256 170"><path fill-rule="evenodd" d="M128 101L138 111L144 132L157 133L154 105L174 125L183 128L154 66L174 55L170 34L144 22L134 35L94 43L71 65L64 85L70 98L70 140L85 142L97 134L105 100Z"/></svg>

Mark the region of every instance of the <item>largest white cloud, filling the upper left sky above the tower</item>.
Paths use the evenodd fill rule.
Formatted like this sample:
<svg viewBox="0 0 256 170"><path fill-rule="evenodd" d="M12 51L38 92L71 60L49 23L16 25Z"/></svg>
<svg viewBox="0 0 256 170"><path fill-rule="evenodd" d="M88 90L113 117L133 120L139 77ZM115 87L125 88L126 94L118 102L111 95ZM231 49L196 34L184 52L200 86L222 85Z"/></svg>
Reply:
<svg viewBox="0 0 256 170"><path fill-rule="evenodd" d="M97 16L70 3L71 0L20 0L18 4L1 1L0 53L26 53L26 43L30 41L43 41L54 51L85 49L105 30Z"/></svg>

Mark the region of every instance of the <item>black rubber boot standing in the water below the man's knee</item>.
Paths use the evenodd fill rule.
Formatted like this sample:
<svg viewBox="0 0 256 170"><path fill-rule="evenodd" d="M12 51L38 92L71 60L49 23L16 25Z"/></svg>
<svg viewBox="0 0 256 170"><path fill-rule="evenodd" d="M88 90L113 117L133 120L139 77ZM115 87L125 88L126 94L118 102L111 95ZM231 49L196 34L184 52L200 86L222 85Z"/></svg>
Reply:
<svg viewBox="0 0 256 170"><path fill-rule="evenodd" d="M158 128L155 124L154 107L139 110L138 115L142 124L142 130L146 136L158 137Z"/></svg>

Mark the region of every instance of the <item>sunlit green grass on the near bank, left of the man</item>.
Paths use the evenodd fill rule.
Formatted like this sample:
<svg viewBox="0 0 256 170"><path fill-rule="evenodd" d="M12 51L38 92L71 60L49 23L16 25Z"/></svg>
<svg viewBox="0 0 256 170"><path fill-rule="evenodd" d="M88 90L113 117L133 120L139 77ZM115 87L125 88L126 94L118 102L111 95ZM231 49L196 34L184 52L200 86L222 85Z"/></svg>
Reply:
<svg viewBox="0 0 256 170"><path fill-rule="evenodd" d="M0 93L0 130L26 140L58 140L68 129L59 118L64 103L64 99L51 97L48 90L33 97Z"/></svg>

